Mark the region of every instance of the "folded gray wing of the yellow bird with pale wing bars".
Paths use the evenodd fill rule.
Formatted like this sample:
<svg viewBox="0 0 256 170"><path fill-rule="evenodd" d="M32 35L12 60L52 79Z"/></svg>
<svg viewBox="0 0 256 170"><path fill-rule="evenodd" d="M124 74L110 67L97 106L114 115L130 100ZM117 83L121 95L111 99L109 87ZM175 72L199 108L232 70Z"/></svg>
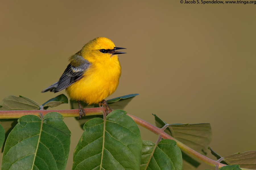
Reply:
<svg viewBox="0 0 256 170"><path fill-rule="evenodd" d="M71 60L72 59L72 60ZM59 92L77 80L80 80L83 77L84 72L86 69L91 65L89 61L84 59L82 56L75 54L74 56L71 56L71 63L67 66L62 76L59 78L59 83L56 89L54 90L54 93ZM79 66L75 67L72 65L72 63L79 63Z"/></svg>

